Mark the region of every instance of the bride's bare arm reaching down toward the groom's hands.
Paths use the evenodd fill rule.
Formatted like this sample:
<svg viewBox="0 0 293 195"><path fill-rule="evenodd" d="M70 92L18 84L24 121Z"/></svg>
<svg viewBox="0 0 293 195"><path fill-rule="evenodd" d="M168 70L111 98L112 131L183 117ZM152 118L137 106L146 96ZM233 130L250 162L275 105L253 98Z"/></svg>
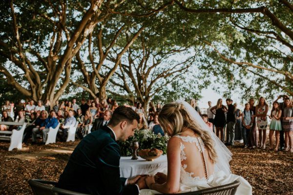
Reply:
<svg viewBox="0 0 293 195"><path fill-rule="evenodd" d="M146 178L148 187L164 194L173 194L179 191L180 167L181 167L180 140L178 137L171 137L167 145L168 173L167 181L164 184L154 183L153 177ZM152 184L153 183L153 184Z"/></svg>

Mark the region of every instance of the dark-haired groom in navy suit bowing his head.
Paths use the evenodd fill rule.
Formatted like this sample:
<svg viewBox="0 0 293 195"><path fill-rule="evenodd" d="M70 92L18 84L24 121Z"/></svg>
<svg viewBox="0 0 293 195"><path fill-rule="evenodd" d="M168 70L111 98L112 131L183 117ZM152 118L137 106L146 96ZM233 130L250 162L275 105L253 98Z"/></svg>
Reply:
<svg viewBox="0 0 293 195"><path fill-rule="evenodd" d="M134 135L139 115L131 108L115 109L108 126L88 134L77 145L57 187L91 195L138 195L146 188L145 177L120 177L120 147Z"/></svg>

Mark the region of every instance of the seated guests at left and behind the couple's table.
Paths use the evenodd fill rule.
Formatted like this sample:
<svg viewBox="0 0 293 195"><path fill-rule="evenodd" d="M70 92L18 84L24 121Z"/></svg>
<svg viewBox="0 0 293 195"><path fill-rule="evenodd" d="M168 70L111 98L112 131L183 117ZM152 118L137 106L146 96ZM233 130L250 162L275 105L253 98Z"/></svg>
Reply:
<svg viewBox="0 0 293 195"><path fill-rule="evenodd" d="M164 132L158 122L158 115L161 110L160 103L154 104L149 103L148 116L146 117L146 112L141 102L135 102L132 107L139 116L140 123L138 124L138 129L149 129L155 134L160 133L164 135ZM35 101L30 100L25 103L23 100L19 101L15 105L14 109L11 107L9 101L6 101L3 105L2 121L16 121L16 122L27 122L27 127L23 134L23 143L28 144L31 138L32 144L36 144L38 139L37 135L42 135L41 143L46 142L47 132L50 127L56 128L58 123L60 123L58 137L60 141L65 141L68 135L68 130L71 125L75 125L76 121L79 122L76 137L83 138L89 132L96 131L101 127L108 124L113 111L119 107L118 102L115 99L81 99L81 104L77 103L74 98L72 102L69 100L59 101L56 100L54 105L50 104L49 100L45 101L43 104L42 100ZM15 119L10 117L11 110L18 109L18 115ZM49 113L49 114L48 114ZM90 129L90 127L92 127ZM16 127L19 128L19 127ZM9 125L0 125L1 131L9 130Z"/></svg>

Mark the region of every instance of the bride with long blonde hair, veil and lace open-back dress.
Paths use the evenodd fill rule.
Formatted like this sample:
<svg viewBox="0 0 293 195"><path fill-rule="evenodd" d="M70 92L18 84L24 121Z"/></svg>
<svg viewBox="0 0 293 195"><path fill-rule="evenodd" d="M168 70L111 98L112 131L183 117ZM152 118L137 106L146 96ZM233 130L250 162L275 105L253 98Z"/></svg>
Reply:
<svg viewBox="0 0 293 195"><path fill-rule="evenodd" d="M167 175L146 177L150 190L141 195L174 194L197 191L240 181L236 195L251 195L251 185L241 176L231 174L232 154L185 101L167 103L159 122L170 136L167 144Z"/></svg>

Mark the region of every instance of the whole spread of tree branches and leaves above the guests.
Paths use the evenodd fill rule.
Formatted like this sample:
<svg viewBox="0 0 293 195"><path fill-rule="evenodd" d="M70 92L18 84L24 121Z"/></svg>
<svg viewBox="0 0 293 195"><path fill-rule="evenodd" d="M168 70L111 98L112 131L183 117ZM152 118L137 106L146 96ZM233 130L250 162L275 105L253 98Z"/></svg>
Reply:
<svg viewBox="0 0 293 195"><path fill-rule="evenodd" d="M0 10L0 73L33 100L75 87L147 103L186 78L190 96L213 78L225 94L293 95L288 0L10 0Z"/></svg>

